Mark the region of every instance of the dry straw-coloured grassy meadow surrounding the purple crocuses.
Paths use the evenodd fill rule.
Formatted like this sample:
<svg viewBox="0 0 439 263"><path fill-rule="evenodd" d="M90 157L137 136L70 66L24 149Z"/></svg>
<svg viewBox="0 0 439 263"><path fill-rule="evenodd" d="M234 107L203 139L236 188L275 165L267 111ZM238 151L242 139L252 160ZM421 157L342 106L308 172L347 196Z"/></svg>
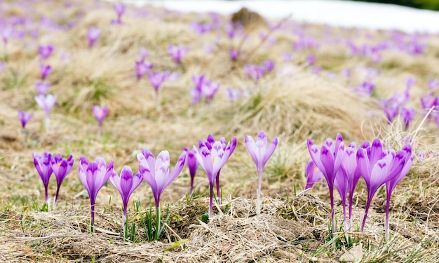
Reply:
<svg viewBox="0 0 439 263"><path fill-rule="evenodd" d="M0 30L11 24L14 30L0 46L0 261L338 262L349 250L360 255L357 262L439 261L439 127L435 108L427 113L420 103L426 94L438 94L428 87L428 80L439 79L438 34L285 19L256 20L229 38L225 24L231 17L127 6L122 24L112 24L117 17L111 3L71 2L0 3ZM200 34L194 22L212 29ZM92 26L101 34L89 48ZM49 44L53 54L41 60L39 45ZM170 44L190 48L180 64L168 55ZM353 47L360 51L355 54ZM158 104L148 76L135 76L140 48L149 50L145 61L154 64L152 71L174 76L160 87ZM231 49L239 52L236 61L229 56ZM245 64L260 65L266 59L275 63L273 71L257 81L249 78ZM58 97L47 131L45 113L34 99L41 63L52 67L48 94ZM192 76L201 74L221 86L210 104L192 105ZM404 92L407 78L416 79L406 104L416 115L406 130L399 117L388 122L382 101ZM370 95L357 91L365 81L375 85ZM241 96L230 101L227 87ZM100 135L94 105L109 109ZM19 110L34 114L25 129ZM256 216L257 171L244 139L246 134L255 138L259 130L269 141L278 136L279 144L264 169L262 214ZM343 232L330 233L327 186L319 182L304 191L311 159L306 138L321 145L337 133L346 145L380 138L386 148L398 151L408 141L412 144L412 169L391 199L390 241L384 241L384 189L375 195L360 233L367 199L360 180L349 240ZM95 233L90 233L90 201L78 174L81 156L113 160L117 173L124 165L137 172L136 155L142 148L154 155L168 150L173 167L185 146L198 146L208 134L227 141L236 136L238 141L221 170L222 202L214 206L211 220L203 219L208 178L200 167L191 195L185 166L163 193L163 219L170 219L159 241L145 237L144 215L154 207L147 183L130 198L132 241L121 234L122 201L109 182L97 194ZM32 158L33 152L43 151L75 159L58 205L48 211ZM343 229L337 194L336 208L337 226Z"/></svg>

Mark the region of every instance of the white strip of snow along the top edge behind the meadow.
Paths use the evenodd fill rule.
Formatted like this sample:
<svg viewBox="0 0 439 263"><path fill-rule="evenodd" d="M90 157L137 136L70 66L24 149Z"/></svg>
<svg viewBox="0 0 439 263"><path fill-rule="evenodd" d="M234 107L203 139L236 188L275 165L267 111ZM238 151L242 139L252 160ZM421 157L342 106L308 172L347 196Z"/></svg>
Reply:
<svg viewBox="0 0 439 263"><path fill-rule="evenodd" d="M216 12L229 15L241 7L254 10L269 19L292 19L339 27L397 29L406 32L439 33L439 12L383 3L342 0L271 1L171 1L125 0L136 6L158 6L180 12Z"/></svg>

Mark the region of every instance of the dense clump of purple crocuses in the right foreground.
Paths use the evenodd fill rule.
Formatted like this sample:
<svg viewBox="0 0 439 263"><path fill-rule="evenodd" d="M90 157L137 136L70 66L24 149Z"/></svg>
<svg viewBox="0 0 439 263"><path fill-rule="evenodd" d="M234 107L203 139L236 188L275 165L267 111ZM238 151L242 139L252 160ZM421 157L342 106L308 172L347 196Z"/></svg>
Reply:
<svg viewBox="0 0 439 263"><path fill-rule="evenodd" d="M353 193L360 178L365 180L367 185L367 203L365 214L361 224L361 232L365 227L367 212L374 194L379 187L386 185L387 207L386 207L386 239L389 239L389 205L390 197L396 185L410 171L413 161L412 147L407 144L399 152L393 149L384 149L384 145L378 138L372 143L365 141L360 147L356 148L356 143L344 146L341 134L332 141L328 138L325 143L318 148L308 139L308 149L311 155L310 162L306 168L308 183L306 187L311 187L318 180L319 175L323 175L330 190L331 213L332 213L332 232L335 232L335 214L333 188L335 187L342 198L344 211L344 229L348 231L352 224L352 201ZM317 170L318 169L318 170ZM346 217L346 196L349 192L349 217Z"/></svg>

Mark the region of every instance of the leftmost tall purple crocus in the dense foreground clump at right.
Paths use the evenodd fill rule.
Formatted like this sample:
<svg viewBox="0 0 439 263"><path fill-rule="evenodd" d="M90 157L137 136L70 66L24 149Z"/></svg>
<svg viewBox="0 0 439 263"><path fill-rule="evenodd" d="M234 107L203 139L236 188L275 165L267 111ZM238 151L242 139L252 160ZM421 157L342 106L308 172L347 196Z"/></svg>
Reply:
<svg viewBox="0 0 439 263"><path fill-rule="evenodd" d="M334 181L337 171L342 166L344 159L344 143L342 134L337 134L335 142L327 138L319 149L311 139L308 139L309 155L317 168L325 176L327 187L330 190L332 233L335 233L335 211L334 211Z"/></svg>

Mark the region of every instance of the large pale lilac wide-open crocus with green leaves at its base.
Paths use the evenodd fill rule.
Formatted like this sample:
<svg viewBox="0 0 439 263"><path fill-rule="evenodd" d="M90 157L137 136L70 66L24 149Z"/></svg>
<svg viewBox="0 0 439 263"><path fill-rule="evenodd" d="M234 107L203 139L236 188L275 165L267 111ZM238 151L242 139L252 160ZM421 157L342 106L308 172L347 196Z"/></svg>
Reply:
<svg viewBox="0 0 439 263"><path fill-rule="evenodd" d="M169 173L170 161L169 152L167 150L161 151L157 159L152 152L147 148L143 148L142 152L137 155L139 162L139 172L142 174L144 180L151 187L154 201L156 202L156 232L155 239L158 240L158 233L160 232L160 218L161 207L160 197L166 187L177 178L183 169L184 161L186 160L186 152L182 152L178 161L175 164L173 171Z"/></svg>

